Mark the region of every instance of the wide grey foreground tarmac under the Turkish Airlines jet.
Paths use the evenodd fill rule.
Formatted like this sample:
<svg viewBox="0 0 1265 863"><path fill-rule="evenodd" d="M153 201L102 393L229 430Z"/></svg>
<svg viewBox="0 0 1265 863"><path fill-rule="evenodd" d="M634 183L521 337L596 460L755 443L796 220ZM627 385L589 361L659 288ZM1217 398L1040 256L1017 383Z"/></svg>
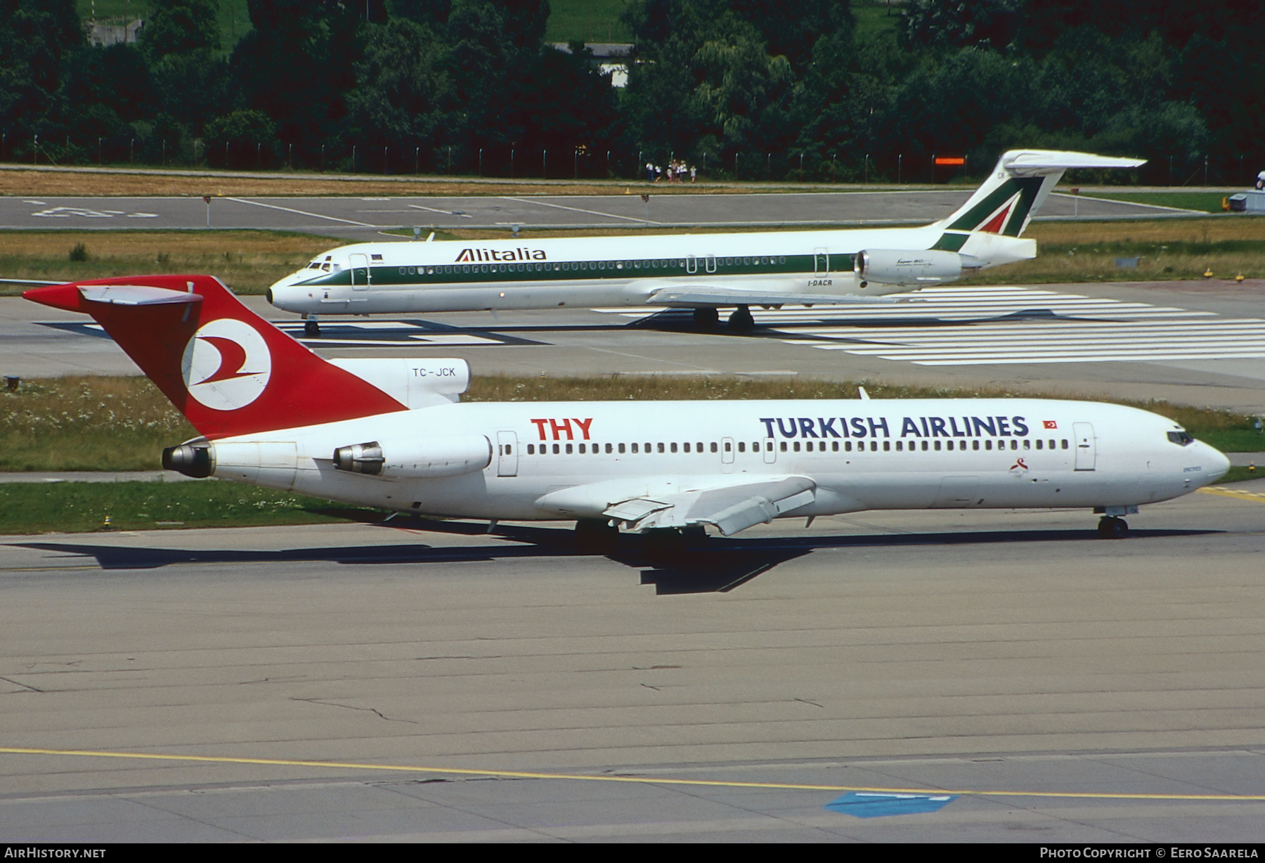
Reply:
<svg viewBox="0 0 1265 863"><path fill-rule="evenodd" d="M0 538L0 836L1259 839L1262 512Z"/></svg>

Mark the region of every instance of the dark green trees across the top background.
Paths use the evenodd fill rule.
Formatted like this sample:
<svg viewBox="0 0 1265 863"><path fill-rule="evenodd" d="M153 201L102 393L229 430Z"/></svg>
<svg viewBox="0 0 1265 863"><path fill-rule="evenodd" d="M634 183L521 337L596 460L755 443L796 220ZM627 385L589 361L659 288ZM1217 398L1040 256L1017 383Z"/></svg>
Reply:
<svg viewBox="0 0 1265 863"><path fill-rule="evenodd" d="M548 0L248 8L234 46L218 0L153 0L101 48L73 0L0 0L0 158L926 180L932 154L1044 146L1157 182L1265 158L1259 1L910 0L859 35L849 0L630 0L626 89L545 44Z"/></svg>

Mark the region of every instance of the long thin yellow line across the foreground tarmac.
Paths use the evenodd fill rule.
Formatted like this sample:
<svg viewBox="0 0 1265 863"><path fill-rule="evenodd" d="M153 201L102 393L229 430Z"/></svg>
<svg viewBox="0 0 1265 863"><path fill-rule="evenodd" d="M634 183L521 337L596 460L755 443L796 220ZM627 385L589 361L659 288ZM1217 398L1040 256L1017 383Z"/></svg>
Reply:
<svg viewBox="0 0 1265 863"><path fill-rule="evenodd" d="M71 755L80 758L129 758L135 761L195 762L211 764L263 764L272 767L320 767L349 771L386 771L393 773L445 773L449 776L487 776L512 779L569 779L576 782L632 782L638 785L706 786L717 788L779 788L788 791L859 791L898 795L959 795L975 797L1060 797L1090 800L1218 800L1232 802L1265 802L1265 795L1161 795L1107 791L982 791L978 788L888 788L856 785L801 785L792 782L735 782L725 779L677 779L649 776L602 776L584 773L538 773L528 771L488 771L460 767L416 767L412 764L358 764L354 762L297 761L288 758L235 758L230 755L166 755L149 752L97 752L92 749L27 749L0 747L0 753L13 755Z"/></svg>

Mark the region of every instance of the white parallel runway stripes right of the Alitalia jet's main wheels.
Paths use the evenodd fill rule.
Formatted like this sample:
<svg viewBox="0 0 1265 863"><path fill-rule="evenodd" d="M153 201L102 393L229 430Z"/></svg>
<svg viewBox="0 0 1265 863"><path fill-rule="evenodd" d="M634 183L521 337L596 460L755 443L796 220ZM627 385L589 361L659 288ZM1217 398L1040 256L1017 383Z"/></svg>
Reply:
<svg viewBox="0 0 1265 863"><path fill-rule="evenodd" d="M911 301L882 309L751 314L791 344L918 366L1265 358L1265 320L1257 318L1027 287L927 287L904 297Z"/></svg>

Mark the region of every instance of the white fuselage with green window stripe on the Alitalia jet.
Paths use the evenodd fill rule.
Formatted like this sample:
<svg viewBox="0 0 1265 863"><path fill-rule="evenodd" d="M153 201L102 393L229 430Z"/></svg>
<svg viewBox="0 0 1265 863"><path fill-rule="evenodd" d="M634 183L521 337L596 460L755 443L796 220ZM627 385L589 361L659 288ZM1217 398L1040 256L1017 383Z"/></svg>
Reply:
<svg viewBox="0 0 1265 863"><path fill-rule="evenodd" d="M878 281L865 285L853 272L853 256L864 248L927 249L942 233L941 228L927 225L361 243L318 256L304 270L273 285L268 297L278 309L305 315L645 304L773 305L781 296L788 297L787 302L813 297L829 302L917 287L917 283ZM987 242L990 259L982 266L1035 254L1031 240L990 238ZM736 295L730 296L730 292ZM743 294L750 299L745 300Z"/></svg>

